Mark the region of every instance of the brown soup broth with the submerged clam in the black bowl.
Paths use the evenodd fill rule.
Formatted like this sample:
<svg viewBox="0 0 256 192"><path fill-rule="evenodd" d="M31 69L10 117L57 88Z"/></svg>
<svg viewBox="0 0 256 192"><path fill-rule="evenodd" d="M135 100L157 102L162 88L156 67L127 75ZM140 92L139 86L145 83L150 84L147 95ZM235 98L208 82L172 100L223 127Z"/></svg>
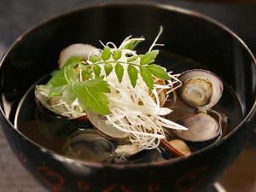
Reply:
<svg viewBox="0 0 256 192"><path fill-rule="evenodd" d="M175 73L181 73L192 68L203 68L195 61L183 56L168 54L167 51L161 52L160 60L162 60L162 63L166 61L172 63L166 68L168 71ZM40 79L36 84L45 83L47 79L49 79L49 75ZM86 119L69 120L47 111L47 109L38 105L34 92L35 85L21 99L15 116L15 127L26 137L44 148L72 159L103 163L145 163L174 158L172 154L166 152L166 148L162 147L143 150L130 158L115 156L113 152L119 143L102 137L102 134L96 131L90 121ZM185 104L178 96L176 102L166 102L165 106L173 110L172 113L167 115L167 119L173 121L185 114L195 113L196 111ZM224 137L232 131L241 121L241 106L228 84L224 83L222 97L208 113L221 125L221 133L217 139L212 141L200 143L185 141L191 148L192 153L217 142L220 137ZM171 131L165 131L168 139L177 138Z"/></svg>

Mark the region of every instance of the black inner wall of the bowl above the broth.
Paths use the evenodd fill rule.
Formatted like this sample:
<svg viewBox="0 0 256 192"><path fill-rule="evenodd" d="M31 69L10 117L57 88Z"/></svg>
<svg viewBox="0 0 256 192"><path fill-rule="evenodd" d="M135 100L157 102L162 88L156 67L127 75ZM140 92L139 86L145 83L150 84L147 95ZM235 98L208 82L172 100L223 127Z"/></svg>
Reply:
<svg viewBox="0 0 256 192"><path fill-rule="evenodd" d="M182 9L153 5L108 5L80 9L42 23L22 35L3 57L1 107L11 124L26 90L45 74L57 68L61 49L84 43L100 47L102 42L120 44L129 36L147 40L140 50L150 47L159 31L159 63L179 73L183 61L191 59L217 73L235 93L242 116L247 116L255 102L255 66L253 56L236 35L212 20ZM174 56L175 55L175 56ZM253 83L254 82L254 83ZM232 110L232 106L226 105ZM241 122L236 122L236 125Z"/></svg>

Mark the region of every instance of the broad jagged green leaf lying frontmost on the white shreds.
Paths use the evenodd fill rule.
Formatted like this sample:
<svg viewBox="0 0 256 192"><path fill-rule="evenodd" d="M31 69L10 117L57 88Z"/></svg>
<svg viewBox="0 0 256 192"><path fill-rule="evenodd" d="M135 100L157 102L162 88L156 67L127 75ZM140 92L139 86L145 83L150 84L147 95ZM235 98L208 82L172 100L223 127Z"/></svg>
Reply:
<svg viewBox="0 0 256 192"><path fill-rule="evenodd" d="M108 97L105 93L108 93L108 83L103 80L87 80L78 82L73 85L75 95L78 96L79 105L85 111L90 110L94 113L107 115Z"/></svg>

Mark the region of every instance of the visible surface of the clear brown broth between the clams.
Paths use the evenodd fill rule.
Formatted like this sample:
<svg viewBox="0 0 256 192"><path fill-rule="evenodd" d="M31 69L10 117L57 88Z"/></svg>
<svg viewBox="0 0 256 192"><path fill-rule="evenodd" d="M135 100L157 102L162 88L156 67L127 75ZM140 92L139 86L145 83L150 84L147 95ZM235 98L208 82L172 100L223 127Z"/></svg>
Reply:
<svg viewBox="0 0 256 192"><path fill-rule="evenodd" d="M166 63L166 61L170 63L168 67L165 66L166 69L168 71L172 71L173 73L181 73L183 71L186 71L188 69L193 69L193 68L203 69L203 67L200 64L190 60L189 58L185 58L179 55L169 54L167 51L160 51L159 63ZM47 79L49 79L49 75L44 77L43 79L38 80L36 84L42 84ZM106 155L108 156L108 154L104 154L105 156L103 157L100 155L102 153L99 153L98 154L99 156L97 158L96 156L97 154L90 154L90 153L93 153L93 151L84 149L83 147L83 145L87 146L88 142L75 143L75 145L73 145L74 150L71 151L69 148L71 146L70 135L73 133L73 131L78 128L81 128L81 126L84 130L86 129L94 130L93 126L90 124L78 125L77 123L70 123L70 122L67 123L68 121L67 119L61 119L60 115L56 115L53 113L46 114L46 116L44 116L43 114L43 117L42 117L41 108L38 108L37 102L35 101L34 89L35 89L35 85L33 85L26 92L25 96L23 96L23 98L21 99L19 107L15 114L15 126L19 131L21 131L26 137L29 137L30 139L32 139L32 141L34 141L35 143L38 143L39 145L42 145L45 148L49 148L50 150L53 150L58 154L66 155L73 159L97 161L97 159L102 160L102 158L104 159ZM189 108L180 99L177 99L177 102L175 103L166 102L165 105L166 107L171 108L173 110L172 113L168 114L168 119L171 119L171 120L176 120L178 119L178 117L182 116L183 114L195 112L195 109ZM232 92L228 84L224 83L223 96L220 98L220 101L218 102L218 104L212 109L214 111L217 111L222 116L223 119L227 119L227 121L225 122L223 121L221 123L223 130L220 137L223 137L224 135L228 134L230 131L232 131L236 127L236 125L238 125L241 122L242 113L241 113L240 103L236 99L235 94ZM55 119L52 119L52 117L54 117ZM212 117L214 117L214 119L218 119L216 117L216 114L214 113L212 113ZM43 123L40 122L40 120L42 119L43 119ZM60 125L56 126L55 120L57 119L60 119ZM55 131L56 127L59 126L62 128L63 127L66 128L66 125L68 127L68 130L70 131L68 134L61 135L57 131ZM52 126L55 128L53 128L52 130L48 129L47 131L45 131L45 126L49 126L49 127ZM101 136L98 135L98 137L101 137ZM172 134L170 135L168 134L168 137L172 138L173 136ZM89 143L89 145L90 144L91 143ZM116 143L112 143L112 144L113 146L116 146ZM212 143L196 143L196 144L187 143L187 144L192 150L195 151L200 148L204 148L205 146ZM94 146L94 147L89 147L89 149L90 148L99 149L99 148L106 148L106 146L104 147ZM108 150L110 149L108 148ZM86 153L88 153L89 156L88 155L86 156L86 154L80 154L80 153L83 153L83 151L86 151ZM101 162L143 163L143 162L151 162L151 161L157 161L157 160L165 160L169 158L170 156L164 154L162 150L153 149L153 150L143 151L135 155L134 157L132 157L131 160L127 160L127 161L123 160L119 162L118 158L117 159L112 158L111 160L107 158L108 160L107 159L102 160Z"/></svg>

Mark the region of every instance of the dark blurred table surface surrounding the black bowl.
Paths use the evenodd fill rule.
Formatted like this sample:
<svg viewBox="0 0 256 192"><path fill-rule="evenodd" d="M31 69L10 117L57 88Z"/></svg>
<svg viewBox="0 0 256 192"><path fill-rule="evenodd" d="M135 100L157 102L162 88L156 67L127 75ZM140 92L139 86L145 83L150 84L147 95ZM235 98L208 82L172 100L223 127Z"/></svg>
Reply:
<svg viewBox="0 0 256 192"><path fill-rule="evenodd" d="M101 2L101 0L87 0L86 2L83 0L0 0L0 55L20 33L25 32L27 28L37 24L38 21L83 5ZM104 0L104 2L113 2L113 0ZM253 53L256 53L256 4L195 3L192 0L156 0L154 2L169 3L210 15L229 26L244 39ZM240 157L219 179L219 183L227 192L256 192L255 141L256 129L252 131L252 137ZM45 191L15 159L1 129L0 153L1 192Z"/></svg>

